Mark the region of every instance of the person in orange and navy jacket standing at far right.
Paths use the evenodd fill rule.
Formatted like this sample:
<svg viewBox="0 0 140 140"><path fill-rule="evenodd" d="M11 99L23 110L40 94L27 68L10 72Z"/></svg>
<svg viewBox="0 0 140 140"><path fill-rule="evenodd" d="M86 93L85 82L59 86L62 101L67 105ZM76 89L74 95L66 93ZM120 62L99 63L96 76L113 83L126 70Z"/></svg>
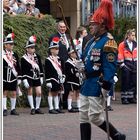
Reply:
<svg viewBox="0 0 140 140"><path fill-rule="evenodd" d="M135 30L129 29L118 48L118 64L121 68L122 104L136 103L137 95L137 43Z"/></svg>

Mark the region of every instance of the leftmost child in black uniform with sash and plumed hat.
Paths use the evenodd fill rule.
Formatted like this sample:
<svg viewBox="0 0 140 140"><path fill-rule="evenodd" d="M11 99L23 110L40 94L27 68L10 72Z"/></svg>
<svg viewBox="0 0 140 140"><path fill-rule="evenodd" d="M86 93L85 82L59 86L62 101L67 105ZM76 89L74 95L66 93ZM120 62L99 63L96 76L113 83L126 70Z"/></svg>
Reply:
<svg viewBox="0 0 140 140"><path fill-rule="evenodd" d="M8 34L4 39L3 50L3 116L8 115L7 95L11 94L11 115L19 115L15 109L17 85L21 83L21 72L18 55L13 52L14 33Z"/></svg>

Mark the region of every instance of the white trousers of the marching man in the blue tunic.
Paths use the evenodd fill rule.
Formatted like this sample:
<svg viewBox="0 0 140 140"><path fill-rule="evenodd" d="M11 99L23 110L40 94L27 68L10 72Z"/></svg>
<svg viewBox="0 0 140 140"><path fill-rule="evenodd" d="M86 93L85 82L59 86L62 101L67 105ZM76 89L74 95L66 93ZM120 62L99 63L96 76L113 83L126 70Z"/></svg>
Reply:
<svg viewBox="0 0 140 140"><path fill-rule="evenodd" d="M99 126L104 122L103 98L83 96L80 94L80 123L89 123Z"/></svg>

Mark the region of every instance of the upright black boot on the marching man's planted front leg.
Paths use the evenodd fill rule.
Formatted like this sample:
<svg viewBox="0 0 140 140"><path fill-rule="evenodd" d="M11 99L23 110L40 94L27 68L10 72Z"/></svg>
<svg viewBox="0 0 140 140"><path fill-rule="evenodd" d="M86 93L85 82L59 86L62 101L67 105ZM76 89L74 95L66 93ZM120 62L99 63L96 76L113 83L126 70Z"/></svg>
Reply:
<svg viewBox="0 0 140 140"><path fill-rule="evenodd" d="M80 133L81 133L81 140L91 140L91 124L81 123Z"/></svg>

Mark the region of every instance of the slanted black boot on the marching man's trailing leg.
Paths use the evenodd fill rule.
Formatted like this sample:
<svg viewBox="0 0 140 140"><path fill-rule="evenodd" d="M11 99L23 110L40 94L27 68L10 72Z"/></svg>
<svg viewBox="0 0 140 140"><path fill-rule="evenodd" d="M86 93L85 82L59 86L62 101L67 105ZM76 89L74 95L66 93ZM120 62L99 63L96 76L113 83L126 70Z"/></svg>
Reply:
<svg viewBox="0 0 140 140"><path fill-rule="evenodd" d="M105 121L99 127L102 130L104 130L105 132L107 132ZM125 140L125 138L126 138L126 136L124 134L121 134L120 132L118 132L118 130L111 123L109 123L109 133L110 133L110 137L112 138L112 140Z"/></svg>

